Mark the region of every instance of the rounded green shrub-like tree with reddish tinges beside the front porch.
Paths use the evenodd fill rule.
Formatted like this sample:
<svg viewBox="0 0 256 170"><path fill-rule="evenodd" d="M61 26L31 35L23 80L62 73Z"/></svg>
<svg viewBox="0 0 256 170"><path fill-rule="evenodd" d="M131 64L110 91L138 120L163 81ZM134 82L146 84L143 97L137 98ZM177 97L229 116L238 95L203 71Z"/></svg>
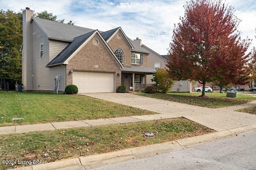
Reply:
<svg viewBox="0 0 256 170"><path fill-rule="evenodd" d="M169 77L165 68L159 68L153 75L152 82L156 82L159 90L166 93L172 88L173 80Z"/></svg>

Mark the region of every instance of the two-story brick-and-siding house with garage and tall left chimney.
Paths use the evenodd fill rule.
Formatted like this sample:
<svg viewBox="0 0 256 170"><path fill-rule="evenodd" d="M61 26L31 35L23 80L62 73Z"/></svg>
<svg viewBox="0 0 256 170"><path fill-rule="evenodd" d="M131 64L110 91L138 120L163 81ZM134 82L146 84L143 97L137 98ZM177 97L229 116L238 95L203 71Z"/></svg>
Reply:
<svg viewBox="0 0 256 170"><path fill-rule="evenodd" d="M144 89L148 51L121 27L98 31L33 17L23 12L22 83L25 91L62 93L69 84L79 93ZM151 83L151 81L149 82Z"/></svg>

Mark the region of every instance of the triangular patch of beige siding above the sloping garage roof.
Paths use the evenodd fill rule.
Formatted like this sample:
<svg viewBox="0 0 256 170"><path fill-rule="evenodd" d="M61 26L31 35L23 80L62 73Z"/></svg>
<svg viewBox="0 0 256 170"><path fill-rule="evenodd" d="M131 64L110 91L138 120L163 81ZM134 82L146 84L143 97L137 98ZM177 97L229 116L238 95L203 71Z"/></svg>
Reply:
<svg viewBox="0 0 256 170"><path fill-rule="evenodd" d="M50 59L52 61L65 47L68 46L68 42L50 40Z"/></svg>

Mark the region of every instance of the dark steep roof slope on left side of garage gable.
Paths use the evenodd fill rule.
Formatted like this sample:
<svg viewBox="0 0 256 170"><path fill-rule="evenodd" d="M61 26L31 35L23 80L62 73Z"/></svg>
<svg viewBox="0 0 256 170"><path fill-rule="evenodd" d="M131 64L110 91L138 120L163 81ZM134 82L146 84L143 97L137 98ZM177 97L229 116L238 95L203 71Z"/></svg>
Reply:
<svg viewBox="0 0 256 170"><path fill-rule="evenodd" d="M50 61L50 63L47 64L47 66L64 63L95 31L96 30L75 37L74 41L64 48L52 61Z"/></svg>

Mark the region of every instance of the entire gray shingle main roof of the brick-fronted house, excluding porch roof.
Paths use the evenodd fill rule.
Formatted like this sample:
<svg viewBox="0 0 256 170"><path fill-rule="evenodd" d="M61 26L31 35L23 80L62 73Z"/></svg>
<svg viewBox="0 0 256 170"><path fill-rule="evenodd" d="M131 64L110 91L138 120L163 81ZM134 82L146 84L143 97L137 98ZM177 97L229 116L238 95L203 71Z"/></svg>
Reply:
<svg viewBox="0 0 256 170"><path fill-rule="evenodd" d="M42 18L32 17L39 27L46 33L49 39L55 39L59 41L67 41L70 44L61 51L47 66L52 66L56 64L61 64L94 33L94 29L78 27L75 25L69 25L65 23L60 23L56 21L44 20ZM107 41L120 27L111 29L109 31L99 31L105 41ZM127 37L128 38L128 37ZM133 52L147 53L140 45L136 44L132 39L128 38L128 41L132 44L134 49Z"/></svg>

